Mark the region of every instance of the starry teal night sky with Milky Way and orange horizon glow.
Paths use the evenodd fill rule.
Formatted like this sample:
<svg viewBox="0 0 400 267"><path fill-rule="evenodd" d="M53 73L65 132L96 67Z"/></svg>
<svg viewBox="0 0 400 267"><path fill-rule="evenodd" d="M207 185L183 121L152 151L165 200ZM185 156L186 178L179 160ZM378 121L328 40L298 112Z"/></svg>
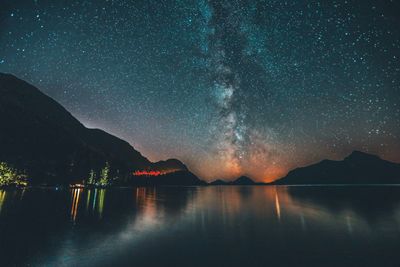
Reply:
<svg viewBox="0 0 400 267"><path fill-rule="evenodd" d="M397 0L1 0L0 72L206 180L400 162Z"/></svg>

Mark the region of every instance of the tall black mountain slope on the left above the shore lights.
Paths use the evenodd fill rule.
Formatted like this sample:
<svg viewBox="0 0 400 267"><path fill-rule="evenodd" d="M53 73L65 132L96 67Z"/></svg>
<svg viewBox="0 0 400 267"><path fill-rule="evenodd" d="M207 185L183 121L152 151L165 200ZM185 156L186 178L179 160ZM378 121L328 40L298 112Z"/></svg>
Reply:
<svg viewBox="0 0 400 267"><path fill-rule="evenodd" d="M25 171L33 184L82 181L90 170L99 171L106 162L111 176L120 182L132 182L135 170L152 168L183 171L190 176L188 181L194 181L182 162L152 163L128 142L86 128L34 86L1 73L0 148L0 161Z"/></svg>

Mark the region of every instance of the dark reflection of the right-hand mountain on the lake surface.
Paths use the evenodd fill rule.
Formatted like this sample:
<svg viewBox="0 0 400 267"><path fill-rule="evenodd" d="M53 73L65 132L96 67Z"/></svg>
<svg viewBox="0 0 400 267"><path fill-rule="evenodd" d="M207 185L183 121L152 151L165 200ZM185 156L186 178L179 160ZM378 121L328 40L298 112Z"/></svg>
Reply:
<svg viewBox="0 0 400 267"><path fill-rule="evenodd" d="M354 219L379 224L399 218L398 186L293 186L288 194L300 206L343 216L349 229Z"/></svg>

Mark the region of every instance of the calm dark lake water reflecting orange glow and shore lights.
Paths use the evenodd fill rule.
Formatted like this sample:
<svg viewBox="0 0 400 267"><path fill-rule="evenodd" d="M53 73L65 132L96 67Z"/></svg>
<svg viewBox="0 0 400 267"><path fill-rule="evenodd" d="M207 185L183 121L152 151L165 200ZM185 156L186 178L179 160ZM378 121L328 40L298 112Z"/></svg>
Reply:
<svg viewBox="0 0 400 267"><path fill-rule="evenodd" d="M0 266L400 266L400 187L0 190Z"/></svg>

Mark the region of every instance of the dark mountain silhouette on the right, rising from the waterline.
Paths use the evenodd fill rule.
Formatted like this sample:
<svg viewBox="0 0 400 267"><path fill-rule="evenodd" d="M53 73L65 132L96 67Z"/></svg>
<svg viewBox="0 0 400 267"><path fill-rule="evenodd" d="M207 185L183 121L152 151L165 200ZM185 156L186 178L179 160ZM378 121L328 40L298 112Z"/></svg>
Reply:
<svg viewBox="0 0 400 267"><path fill-rule="evenodd" d="M323 160L290 171L273 184L397 184L400 164L354 151L342 161Z"/></svg>

